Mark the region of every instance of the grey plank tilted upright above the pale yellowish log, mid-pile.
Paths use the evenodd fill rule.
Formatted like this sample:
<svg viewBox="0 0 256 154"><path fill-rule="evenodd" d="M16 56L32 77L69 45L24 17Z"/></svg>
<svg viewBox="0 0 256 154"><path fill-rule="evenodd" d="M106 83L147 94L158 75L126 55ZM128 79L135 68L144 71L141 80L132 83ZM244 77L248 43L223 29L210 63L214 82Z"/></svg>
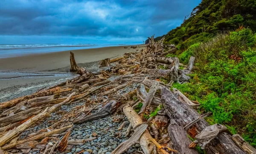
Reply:
<svg viewBox="0 0 256 154"><path fill-rule="evenodd" d="M157 81L155 81L152 84L152 86L150 87L148 95L147 95L145 101L143 102L143 106L141 107L139 114L144 113L146 111L147 107L150 106L151 101L153 100L154 95L157 92L158 85L159 85L159 83Z"/></svg>

